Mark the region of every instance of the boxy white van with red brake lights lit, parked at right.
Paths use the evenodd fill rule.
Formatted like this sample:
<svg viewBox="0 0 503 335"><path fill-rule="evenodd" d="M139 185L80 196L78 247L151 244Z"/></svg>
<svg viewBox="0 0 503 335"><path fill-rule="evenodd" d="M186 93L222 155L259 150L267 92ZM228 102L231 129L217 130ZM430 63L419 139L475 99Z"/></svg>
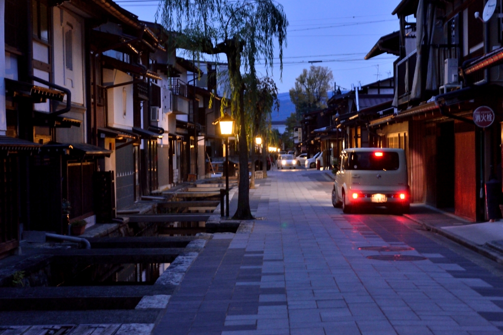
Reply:
<svg viewBox="0 0 503 335"><path fill-rule="evenodd" d="M403 149L350 148L341 152L332 205L342 206L344 213L386 206L403 214L409 212L409 190Z"/></svg>

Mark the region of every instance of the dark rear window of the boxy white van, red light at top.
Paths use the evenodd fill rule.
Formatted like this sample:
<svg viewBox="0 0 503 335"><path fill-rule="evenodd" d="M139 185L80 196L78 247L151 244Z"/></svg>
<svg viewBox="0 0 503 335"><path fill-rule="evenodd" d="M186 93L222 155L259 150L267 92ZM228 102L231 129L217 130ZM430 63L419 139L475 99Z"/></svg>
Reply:
<svg viewBox="0 0 503 335"><path fill-rule="evenodd" d="M398 152L379 152L382 152L381 156L377 156L376 151L350 153L348 170L398 170L400 167Z"/></svg>

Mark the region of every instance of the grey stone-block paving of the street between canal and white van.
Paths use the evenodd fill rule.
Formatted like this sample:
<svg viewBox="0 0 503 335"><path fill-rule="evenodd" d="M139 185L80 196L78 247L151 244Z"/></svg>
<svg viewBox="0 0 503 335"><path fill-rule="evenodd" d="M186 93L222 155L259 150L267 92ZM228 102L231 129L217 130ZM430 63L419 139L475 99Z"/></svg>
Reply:
<svg viewBox="0 0 503 335"><path fill-rule="evenodd" d="M344 215L322 172L272 171L257 184L253 230L208 241L154 334L502 333L501 278L407 218ZM367 258L395 254L426 260Z"/></svg>

